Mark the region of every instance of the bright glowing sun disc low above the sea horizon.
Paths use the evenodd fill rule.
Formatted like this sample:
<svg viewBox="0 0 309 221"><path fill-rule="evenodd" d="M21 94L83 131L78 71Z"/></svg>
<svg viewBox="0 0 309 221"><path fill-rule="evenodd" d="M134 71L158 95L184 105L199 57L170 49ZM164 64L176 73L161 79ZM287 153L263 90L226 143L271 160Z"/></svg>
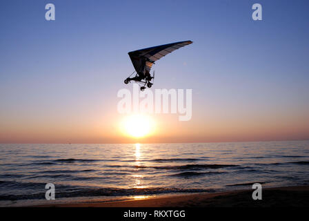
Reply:
<svg viewBox="0 0 309 221"><path fill-rule="evenodd" d="M130 115L123 119L122 131L131 137L139 138L154 132L155 122L148 115Z"/></svg>

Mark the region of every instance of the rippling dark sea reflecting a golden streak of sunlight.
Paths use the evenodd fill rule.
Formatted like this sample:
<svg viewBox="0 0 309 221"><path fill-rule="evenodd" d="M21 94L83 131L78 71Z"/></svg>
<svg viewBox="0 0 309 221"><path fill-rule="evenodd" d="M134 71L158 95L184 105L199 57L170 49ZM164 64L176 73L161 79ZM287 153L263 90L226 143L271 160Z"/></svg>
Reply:
<svg viewBox="0 0 309 221"><path fill-rule="evenodd" d="M0 168L0 206L295 186L309 184L309 141L0 144Z"/></svg>

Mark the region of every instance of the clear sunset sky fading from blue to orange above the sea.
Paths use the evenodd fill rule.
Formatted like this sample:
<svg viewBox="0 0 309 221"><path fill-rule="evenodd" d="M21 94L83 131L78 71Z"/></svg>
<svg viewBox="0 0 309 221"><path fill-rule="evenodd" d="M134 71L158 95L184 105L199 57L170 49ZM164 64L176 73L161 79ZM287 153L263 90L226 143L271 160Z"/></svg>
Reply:
<svg viewBox="0 0 309 221"><path fill-rule="evenodd" d="M54 3L55 21L45 6ZM262 21L252 20L252 5ZM309 139L308 1L0 1L0 143ZM128 52L192 40L156 62L156 88L192 89L192 119L121 131ZM120 126L119 126L120 125Z"/></svg>

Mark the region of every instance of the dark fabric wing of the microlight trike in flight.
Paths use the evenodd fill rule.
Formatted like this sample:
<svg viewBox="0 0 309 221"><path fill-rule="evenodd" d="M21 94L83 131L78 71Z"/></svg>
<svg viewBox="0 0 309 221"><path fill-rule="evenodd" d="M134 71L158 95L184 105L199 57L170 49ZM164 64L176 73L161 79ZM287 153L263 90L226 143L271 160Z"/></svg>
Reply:
<svg viewBox="0 0 309 221"><path fill-rule="evenodd" d="M172 44L164 44L151 48L143 48L141 50L134 50L128 52L134 69L137 73L150 73L152 64L161 57L168 55L170 52L177 50L183 46L192 44L192 41L179 41Z"/></svg>

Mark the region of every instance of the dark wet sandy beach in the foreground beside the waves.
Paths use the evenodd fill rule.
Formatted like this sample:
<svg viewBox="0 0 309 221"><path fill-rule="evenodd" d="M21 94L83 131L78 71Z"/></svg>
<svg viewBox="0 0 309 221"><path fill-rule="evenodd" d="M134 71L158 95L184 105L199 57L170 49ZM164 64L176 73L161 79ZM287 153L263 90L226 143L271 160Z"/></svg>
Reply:
<svg viewBox="0 0 309 221"><path fill-rule="evenodd" d="M192 193L142 200L44 204L40 207L247 207L309 206L309 186L263 189L262 200L252 200L252 189L221 193Z"/></svg>

